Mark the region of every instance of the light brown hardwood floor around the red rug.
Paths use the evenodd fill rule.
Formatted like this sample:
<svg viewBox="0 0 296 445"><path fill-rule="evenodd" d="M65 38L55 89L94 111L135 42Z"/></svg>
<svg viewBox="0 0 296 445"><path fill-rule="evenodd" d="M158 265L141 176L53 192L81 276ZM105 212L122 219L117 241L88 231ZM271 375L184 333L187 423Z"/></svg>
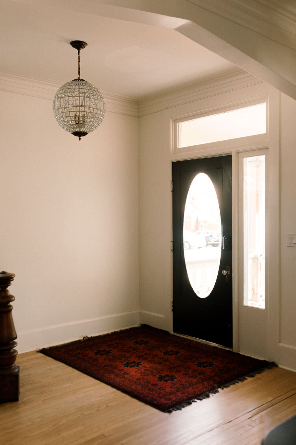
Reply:
<svg viewBox="0 0 296 445"><path fill-rule="evenodd" d="M168 414L36 352L17 364L20 401L0 405L1 445L260 445L296 414L296 373L281 368Z"/></svg>

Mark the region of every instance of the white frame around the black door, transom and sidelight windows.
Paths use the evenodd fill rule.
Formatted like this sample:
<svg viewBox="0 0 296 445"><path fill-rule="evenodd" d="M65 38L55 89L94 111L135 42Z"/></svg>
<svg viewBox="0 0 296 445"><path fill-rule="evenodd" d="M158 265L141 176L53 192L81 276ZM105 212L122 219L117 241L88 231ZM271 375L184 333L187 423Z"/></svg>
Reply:
<svg viewBox="0 0 296 445"><path fill-rule="evenodd" d="M203 144L178 149L176 146L175 125L178 119L192 117L199 113L217 113L229 107L237 105L247 106L254 102L266 100L267 104L267 131L264 135L250 136L230 141ZM235 91L217 94L206 97L198 101L178 105L163 112L164 123L164 171L170 169L171 163L193 158L204 158L209 156L221 156L232 154L233 157L233 350L240 351L240 316L244 315L240 311L242 304L241 295L241 244L239 240L239 157L243 153L252 153L254 150L268 150L268 175L269 187L268 200L269 217L266 226L268 227L268 248L269 255L266 259L268 267L268 309L267 321L263 332L266 335L267 347L264 357L268 360L278 362L279 344L279 263L280 263L280 238L279 238L279 92L267 84L260 83ZM168 141L170 141L168 143ZM169 195L168 195L169 196ZM170 215L170 227L172 227L172 212ZM171 236L171 235L170 235ZM172 295L172 258L171 258L171 292ZM173 329L173 317L171 314L171 332ZM242 335L242 332L241 332ZM256 355L256 354L254 354Z"/></svg>

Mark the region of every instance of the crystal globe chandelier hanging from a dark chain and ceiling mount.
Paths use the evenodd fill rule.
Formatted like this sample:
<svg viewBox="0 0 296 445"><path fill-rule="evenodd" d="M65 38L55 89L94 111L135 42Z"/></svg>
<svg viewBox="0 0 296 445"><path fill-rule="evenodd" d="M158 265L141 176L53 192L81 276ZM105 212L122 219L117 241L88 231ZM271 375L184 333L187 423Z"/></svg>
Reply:
<svg viewBox="0 0 296 445"><path fill-rule="evenodd" d="M78 78L65 83L56 92L53 113L58 124L77 136L80 141L102 123L105 101L94 85L80 79L80 50L85 48L87 43L73 40L70 44L78 51Z"/></svg>

